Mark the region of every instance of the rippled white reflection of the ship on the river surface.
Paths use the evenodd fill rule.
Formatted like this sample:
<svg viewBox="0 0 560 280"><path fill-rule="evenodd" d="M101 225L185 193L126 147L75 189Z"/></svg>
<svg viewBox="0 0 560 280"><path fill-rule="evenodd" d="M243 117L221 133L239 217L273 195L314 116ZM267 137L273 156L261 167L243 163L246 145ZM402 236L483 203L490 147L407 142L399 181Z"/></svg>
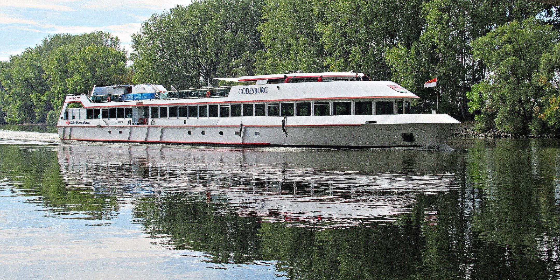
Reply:
<svg viewBox="0 0 560 280"><path fill-rule="evenodd" d="M60 146L67 185L97 194L181 194L268 221L348 222L408 213L459 183L460 153Z"/></svg>

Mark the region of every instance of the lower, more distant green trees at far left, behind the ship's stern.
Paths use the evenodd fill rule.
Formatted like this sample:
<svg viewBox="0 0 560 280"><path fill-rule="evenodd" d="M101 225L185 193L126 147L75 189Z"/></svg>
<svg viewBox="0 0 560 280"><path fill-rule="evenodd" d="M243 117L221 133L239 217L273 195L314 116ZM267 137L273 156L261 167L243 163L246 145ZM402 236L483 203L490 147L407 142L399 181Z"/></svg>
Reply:
<svg viewBox="0 0 560 280"><path fill-rule="evenodd" d="M0 106L8 123L45 122L67 94L94 83L120 83L127 76L127 54L106 32L57 34L0 64ZM53 114L53 113L50 113ZM50 119L52 120L52 118Z"/></svg>

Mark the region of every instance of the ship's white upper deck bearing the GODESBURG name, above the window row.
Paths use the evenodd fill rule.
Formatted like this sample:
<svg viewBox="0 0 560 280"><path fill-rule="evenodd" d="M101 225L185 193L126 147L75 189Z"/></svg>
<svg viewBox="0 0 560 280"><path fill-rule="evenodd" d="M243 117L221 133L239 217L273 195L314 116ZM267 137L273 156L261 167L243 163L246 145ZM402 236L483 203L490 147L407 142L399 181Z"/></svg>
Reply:
<svg viewBox="0 0 560 280"><path fill-rule="evenodd" d="M286 82L284 76L288 78L288 82ZM202 102L419 98L395 82L362 81L364 76L362 73L354 72L324 72L214 78L216 80L242 82L245 85L190 88L181 91L167 91L161 85L152 84L145 84L144 89L138 91L136 87L142 85L104 86L103 90L99 90L99 87L97 87L99 92L94 87L87 99L91 103L104 103L103 105L91 104L90 106L108 106L109 102L111 102L110 106L130 106L139 105L136 104L136 101L152 105ZM322 81L318 81L320 77ZM147 85L150 85L150 87ZM108 87L113 88L113 91L107 89ZM153 90L150 90L150 88ZM66 102L76 101L76 99L67 98ZM118 103L115 104L115 102Z"/></svg>

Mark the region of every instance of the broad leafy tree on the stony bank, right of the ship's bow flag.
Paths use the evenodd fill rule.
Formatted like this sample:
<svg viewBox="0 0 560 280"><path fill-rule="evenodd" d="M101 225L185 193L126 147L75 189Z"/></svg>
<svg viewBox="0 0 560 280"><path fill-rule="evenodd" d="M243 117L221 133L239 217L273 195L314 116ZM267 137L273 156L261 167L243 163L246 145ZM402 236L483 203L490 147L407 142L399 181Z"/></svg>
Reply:
<svg viewBox="0 0 560 280"><path fill-rule="evenodd" d="M472 43L475 59L488 68L492 85L486 108L496 111L496 127L512 133L542 132L536 118L547 95L539 74L543 53L553 51L558 31L531 17L502 25ZM546 60L546 59L545 59Z"/></svg>

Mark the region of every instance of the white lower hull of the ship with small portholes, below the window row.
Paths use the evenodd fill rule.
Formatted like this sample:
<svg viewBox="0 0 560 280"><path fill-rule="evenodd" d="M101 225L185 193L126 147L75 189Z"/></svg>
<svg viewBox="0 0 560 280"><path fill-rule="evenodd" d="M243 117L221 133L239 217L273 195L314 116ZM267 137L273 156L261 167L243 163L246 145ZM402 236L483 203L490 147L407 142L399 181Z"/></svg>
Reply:
<svg viewBox="0 0 560 280"><path fill-rule="evenodd" d="M445 114L325 116L314 117L314 123L309 122L309 116L289 116L284 127L286 135L283 119L272 120L276 125L265 124L271 123L270 117L188 120L188 124L179 124L183 122L180 119L157 120L161 124L154 121L153 125L92 120L100 123L61 126L58 133L61 139L81 141L357 148L442 144L460 124ZM320 120L324 122L317 122ZM403 133L412 133L414 141L405 142Z"/></svg>

